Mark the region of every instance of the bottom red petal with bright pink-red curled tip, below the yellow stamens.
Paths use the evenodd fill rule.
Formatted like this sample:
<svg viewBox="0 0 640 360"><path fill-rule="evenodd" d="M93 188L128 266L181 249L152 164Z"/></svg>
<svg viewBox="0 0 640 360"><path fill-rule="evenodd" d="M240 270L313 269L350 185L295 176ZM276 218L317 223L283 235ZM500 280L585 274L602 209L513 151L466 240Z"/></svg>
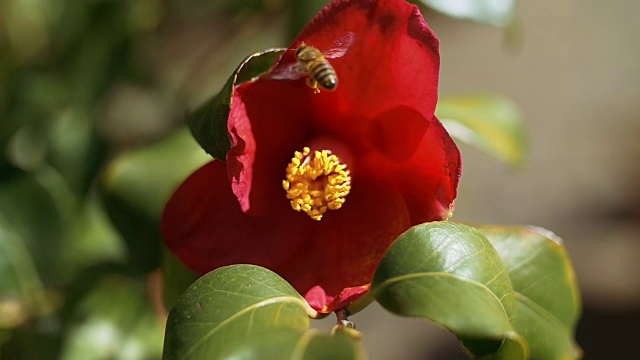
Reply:
<svg viewBox="0 0 640 360"><path fill-rule="evenodd" d="M302 294L321 288L306 295L316 310L339 309L366 291L389 245L409 226L405 201L393 186L360 180L340 210L310 223L305 245L278 272Z"/></svg>

